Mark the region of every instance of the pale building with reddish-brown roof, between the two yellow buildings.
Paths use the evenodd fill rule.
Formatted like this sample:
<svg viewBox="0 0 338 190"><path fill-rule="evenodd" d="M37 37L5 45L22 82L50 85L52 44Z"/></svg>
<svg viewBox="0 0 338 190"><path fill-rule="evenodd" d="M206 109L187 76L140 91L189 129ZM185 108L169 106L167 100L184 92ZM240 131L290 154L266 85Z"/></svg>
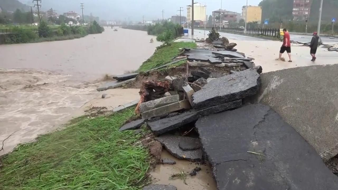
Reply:
<svg viewBox="0 0 338 190"><path fill-rule="evenodd" d="M222 23L222 26L226 26L229 22L238 22L239 13L228 11L224 9L218 9L212 12L213 24L219 25ZM218 19L216 19L216 17Z"/></svg>

